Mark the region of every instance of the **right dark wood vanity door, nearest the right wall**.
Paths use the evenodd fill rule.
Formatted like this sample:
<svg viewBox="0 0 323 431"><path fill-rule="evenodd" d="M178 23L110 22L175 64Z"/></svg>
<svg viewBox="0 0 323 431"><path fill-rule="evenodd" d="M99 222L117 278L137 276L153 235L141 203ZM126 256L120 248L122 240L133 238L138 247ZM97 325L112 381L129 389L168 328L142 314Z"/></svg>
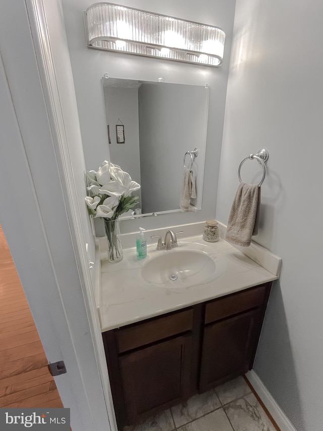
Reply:
<svg viewBox="0 0 323 431"><path fill-rule="evenodd" d="M260 320L256 309L204 327L200 393L248 371Z"/></svg>

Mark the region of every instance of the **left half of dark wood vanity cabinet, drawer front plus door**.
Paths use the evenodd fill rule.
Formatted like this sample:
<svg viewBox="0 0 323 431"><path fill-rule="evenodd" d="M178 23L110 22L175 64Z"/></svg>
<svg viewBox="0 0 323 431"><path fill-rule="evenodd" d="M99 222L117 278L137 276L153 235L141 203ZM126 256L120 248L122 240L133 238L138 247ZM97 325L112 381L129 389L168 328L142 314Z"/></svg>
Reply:
<svg viewBox="0 0 323 431"><path fill-rule="evenodd" d="M103 332L119 429L191 395L193 307Z"/></svg>

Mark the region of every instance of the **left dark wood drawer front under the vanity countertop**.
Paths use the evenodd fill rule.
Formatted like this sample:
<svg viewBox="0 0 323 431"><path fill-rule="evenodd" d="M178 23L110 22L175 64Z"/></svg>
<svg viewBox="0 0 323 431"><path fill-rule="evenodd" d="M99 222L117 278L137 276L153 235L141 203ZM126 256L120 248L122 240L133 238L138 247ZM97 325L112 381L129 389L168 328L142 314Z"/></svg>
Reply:
<svg viewBox="0 0 323 431"><path fill-rule="evenodd" d="M191 330L193 309L135 323L115 330L118 352L123 353Z"/></svg>

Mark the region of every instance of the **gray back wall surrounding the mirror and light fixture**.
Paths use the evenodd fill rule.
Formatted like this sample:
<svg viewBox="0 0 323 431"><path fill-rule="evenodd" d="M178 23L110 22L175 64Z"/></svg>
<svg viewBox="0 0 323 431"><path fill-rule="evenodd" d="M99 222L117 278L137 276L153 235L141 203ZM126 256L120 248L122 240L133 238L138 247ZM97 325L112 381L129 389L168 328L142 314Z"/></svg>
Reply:
<svg viewBox="0 0 323 431"><path fill-rule="evenodd" d="M96 169L103 160L109 158L101 86L101 77L105 72L116 78L157 81L159 77L163 77L166 82L194 85L208 83L210 85L210 103L202 211L147 217L144 219L143 227L167 226L212 218L216 211L235 0L218 0L217 2L202 0L198 4L194 0L177 0L176 2L174 0L164 0L163 2L127 0L122 2L125 6L223 28L227 39L221 68L88 49L85 40L83 11L91 4L89 0L63 0L87 169ZM95 154L92 151L93 142L97 146ZM123 221L121 228L123 231L133 231L138 230L141 224L140 219Z"/></svg>

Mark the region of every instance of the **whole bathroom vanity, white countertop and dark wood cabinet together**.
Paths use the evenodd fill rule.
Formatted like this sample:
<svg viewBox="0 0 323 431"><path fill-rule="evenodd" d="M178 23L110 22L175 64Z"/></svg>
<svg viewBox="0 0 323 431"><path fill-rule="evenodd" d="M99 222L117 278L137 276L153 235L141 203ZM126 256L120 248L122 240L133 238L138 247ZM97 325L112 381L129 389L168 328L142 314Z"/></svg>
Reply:
<svg viewBox="0 0 323 431"><path fill-rule="evenodd" d="M176 259L180 250L211 256L213 276L188 287L185 280L167 285L143 278L149 259L163 253ZM167 252L149 245L146 262L137 261L134 249L120 263L101 262L99 314L119 429L252 368L280 268L280 258L262 252L258 258L274 273L224 240L206 243L201 235Z"/></svg>

